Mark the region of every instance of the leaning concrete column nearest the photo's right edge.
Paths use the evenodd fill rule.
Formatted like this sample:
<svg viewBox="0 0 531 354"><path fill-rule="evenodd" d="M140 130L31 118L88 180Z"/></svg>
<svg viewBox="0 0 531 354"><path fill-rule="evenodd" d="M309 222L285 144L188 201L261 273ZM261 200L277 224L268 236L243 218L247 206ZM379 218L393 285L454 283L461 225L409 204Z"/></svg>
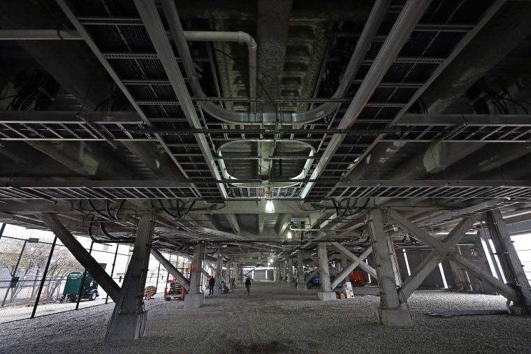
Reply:
<svg viewBox="0 0 531 354"><path fill-rule="evenodd" d="M487 213L488 229L502 265L505 279L520 295L520 302L513 302L509 311L511 314L531 315L531 290L528 277L525 276L522 262L516 253L511 236L502 219L500 209Z"/></svg>

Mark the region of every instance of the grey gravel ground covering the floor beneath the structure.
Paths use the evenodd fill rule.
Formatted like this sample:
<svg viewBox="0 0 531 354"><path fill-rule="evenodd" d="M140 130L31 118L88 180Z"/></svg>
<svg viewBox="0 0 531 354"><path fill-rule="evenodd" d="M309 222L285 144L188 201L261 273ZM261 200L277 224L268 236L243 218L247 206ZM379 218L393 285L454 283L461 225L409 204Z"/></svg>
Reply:
<svg viewBox="0 0 531 354"><path fill-rule="evenodd" d="M206 295L200 309L182 301L146 302L145 337L103 348L113 305L0 325L0 353L530 353L531 317L428 316L430 311L505 309L504 297L415 291L413 325L385 327L374 310L377 288L354 299L321 302L317 290L254 282Z"/></svg>

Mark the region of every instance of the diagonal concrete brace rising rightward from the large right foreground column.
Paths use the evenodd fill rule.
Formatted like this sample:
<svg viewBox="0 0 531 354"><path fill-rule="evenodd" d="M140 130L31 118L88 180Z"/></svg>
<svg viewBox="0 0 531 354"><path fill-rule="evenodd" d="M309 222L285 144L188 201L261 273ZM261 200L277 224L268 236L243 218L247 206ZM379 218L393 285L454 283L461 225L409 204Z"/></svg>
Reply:
<svg viewBox="0 0 531 354"><path fill-rule="evenodd" d="M463 238L463 236L465 236L465 233L470 230L476 219L476 216L462 219L444 238L443 242L437 241L439 246L434 246L433 251L422 260L421 264L419 264L419 266L412 271L412 274L406 279L406 281L402 283L402 289L400 291L400 300L402 302L405 302L414 290L421 285L426 276L430 275L435 267L446 258L446 255L450 251L453 251L453 247Z"/></svg>

